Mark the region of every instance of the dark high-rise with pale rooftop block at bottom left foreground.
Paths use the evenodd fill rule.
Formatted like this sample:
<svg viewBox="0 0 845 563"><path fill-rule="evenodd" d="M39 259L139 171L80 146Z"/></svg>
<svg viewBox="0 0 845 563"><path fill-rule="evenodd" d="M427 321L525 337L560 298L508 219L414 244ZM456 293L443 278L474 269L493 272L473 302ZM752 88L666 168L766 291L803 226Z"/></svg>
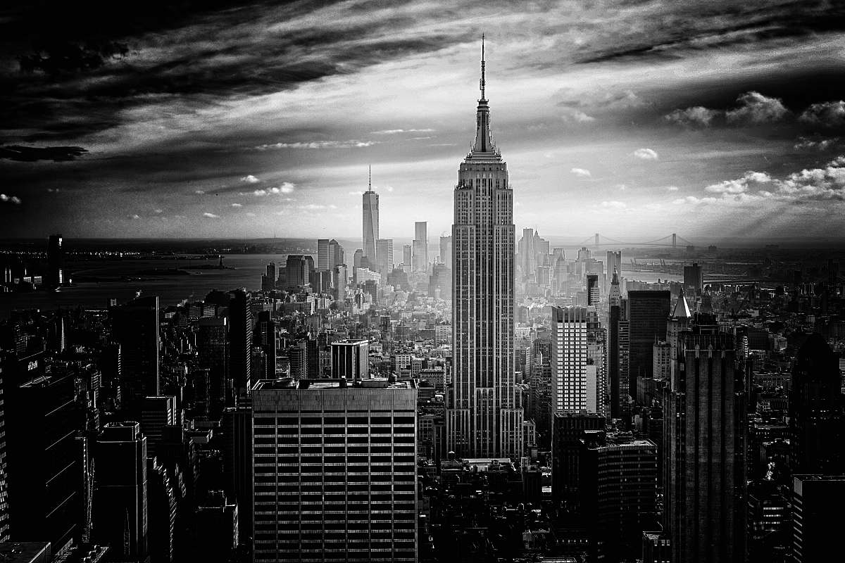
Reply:
<svg viewBox="0 0 845 563"><path fill-rule="evenodd" d="M110 422L95 452L93 539L123 560L147 556L147 439L137 422Z"/></svg>

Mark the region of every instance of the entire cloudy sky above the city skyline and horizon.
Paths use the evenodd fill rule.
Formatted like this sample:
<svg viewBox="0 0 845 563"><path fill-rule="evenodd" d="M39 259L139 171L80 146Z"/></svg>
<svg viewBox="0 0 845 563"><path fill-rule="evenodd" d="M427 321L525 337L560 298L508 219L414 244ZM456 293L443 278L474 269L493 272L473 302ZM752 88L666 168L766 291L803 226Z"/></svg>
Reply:
<svg viewBox="0 0 845 563"><path fill-rule="evenodd" d="M841 235L845 8L29 0L0 8L0 237L450 230L482 32L518 229ZM128 10L128 11L127 11Z"/></svg>

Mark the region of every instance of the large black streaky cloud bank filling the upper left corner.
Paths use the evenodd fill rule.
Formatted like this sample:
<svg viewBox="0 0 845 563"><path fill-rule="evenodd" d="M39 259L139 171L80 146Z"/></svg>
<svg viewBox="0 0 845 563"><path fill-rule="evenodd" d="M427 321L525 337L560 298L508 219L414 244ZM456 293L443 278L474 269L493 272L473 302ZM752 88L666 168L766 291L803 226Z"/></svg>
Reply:
<svg viewBox="0 0 845 563"><path fill-rule="evenodd" d="M8 70L0 73L6 98L0 122L7 133L19 132L27 141L96 133L119 124L121 112L166 96L189 97L202 107L292 89L461 39L442 34L377 38L379 31L413 24L401 17L341 18L270 30L330 3L185 2L172 8L154 2L129 14L117 12L113 3L41 4L53 8L44 10L46 17L38 6L0 14L5 22L0 34L10 31L5 52L17 62L7 60ZM367 37L373 40L360 41Z"/></svg>

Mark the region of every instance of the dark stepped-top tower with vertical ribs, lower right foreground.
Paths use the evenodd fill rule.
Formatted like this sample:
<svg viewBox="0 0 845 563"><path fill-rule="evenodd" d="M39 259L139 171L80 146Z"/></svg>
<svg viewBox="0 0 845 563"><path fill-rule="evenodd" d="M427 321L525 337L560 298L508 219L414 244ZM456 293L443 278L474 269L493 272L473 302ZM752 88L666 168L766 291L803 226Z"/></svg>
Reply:
<svg viewBox="0 0 845 563"><path fill-rule="evenodd" d="M664 530L673 561L743 561L744 374L733 338L716 328L695 327L680 347L663 392Z"/></svg>

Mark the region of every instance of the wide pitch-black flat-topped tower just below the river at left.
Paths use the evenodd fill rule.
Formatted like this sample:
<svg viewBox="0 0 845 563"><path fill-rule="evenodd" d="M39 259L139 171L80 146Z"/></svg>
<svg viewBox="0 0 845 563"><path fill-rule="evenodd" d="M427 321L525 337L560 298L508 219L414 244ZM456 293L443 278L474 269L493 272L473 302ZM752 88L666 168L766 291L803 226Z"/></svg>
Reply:
<svg viewBox="0 0 845 563"><path fill-rule="evenodd" d="M135 298L110 313L120 344L123 401L138 412L144 397L160 394L158 296Z"/></svg>

